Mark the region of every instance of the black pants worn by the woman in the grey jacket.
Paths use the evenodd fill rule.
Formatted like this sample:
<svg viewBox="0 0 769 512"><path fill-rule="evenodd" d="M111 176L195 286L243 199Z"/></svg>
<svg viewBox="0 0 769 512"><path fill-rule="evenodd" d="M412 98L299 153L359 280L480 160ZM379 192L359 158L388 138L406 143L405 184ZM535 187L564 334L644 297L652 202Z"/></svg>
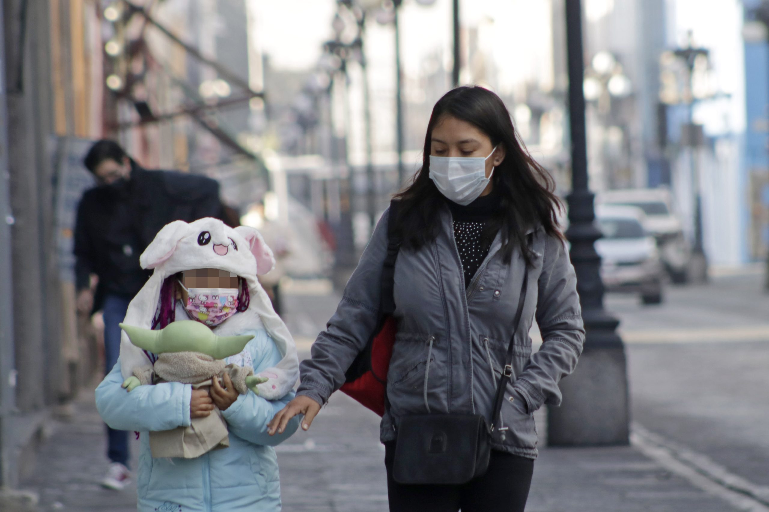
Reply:
<svg viewBox="0 0 769 512"><path fill-rule="evenodd" d="M534 461L491 451L488 471L462 485L405 485L392 478L394 442L384 443L390 512L524 512Z"/></svg>

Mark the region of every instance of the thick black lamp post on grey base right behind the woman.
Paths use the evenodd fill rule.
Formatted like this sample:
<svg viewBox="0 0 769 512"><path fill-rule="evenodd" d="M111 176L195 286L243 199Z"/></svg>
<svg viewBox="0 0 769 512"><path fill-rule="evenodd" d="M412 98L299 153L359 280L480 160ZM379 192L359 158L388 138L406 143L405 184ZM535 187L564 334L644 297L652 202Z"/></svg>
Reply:
<svg viewBox="0 0 769 512"><path fill-rule="evenodd" d="M566 0L566 37L571 128L571 193L567 197L571 262L577 273L586 339L576 371L561 381L563 405L548 408L548 444L628 444L628 372L618 319L604 310L601 257L594 243L594 194L588 188L584 116L584 61L580 0Z"/></svg>

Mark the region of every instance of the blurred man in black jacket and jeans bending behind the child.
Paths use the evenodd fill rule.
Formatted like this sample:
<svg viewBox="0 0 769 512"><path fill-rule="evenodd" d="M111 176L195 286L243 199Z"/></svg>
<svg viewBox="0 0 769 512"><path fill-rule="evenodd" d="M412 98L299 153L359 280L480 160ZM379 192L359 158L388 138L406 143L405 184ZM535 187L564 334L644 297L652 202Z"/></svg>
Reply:
<svg viewBox="0 0 769 512"><path fill-rule="evenodd" d="M151 273L141 269L139 255L171 221L222 219L224 211L215 180L146 170L114 140L96 142L83 163L97 186L83 193L75 223L77 308L84 314L104 314L106 374L118 360L118 322ZM98 276L95 293L89 286L92 274ZM118 490L130 481L128 432L107 431L112 464L102 485Z"/></svg>

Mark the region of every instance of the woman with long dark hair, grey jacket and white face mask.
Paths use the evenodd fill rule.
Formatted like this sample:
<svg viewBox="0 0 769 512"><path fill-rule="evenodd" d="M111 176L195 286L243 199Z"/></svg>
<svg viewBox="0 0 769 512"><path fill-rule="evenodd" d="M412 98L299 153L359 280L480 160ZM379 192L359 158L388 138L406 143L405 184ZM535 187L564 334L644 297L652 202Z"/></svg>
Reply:
<svg viewBox="0 0 769 512"><path fill-rule="evenodd" d="M558 381L574 370L584 341L553 190L496 94L463 87L435 104L421 170L394 203L398 333L381 421L390 510L524 510L537 457L534 411L560 404ZM297 397L271 431L297 414L305 414L307 429L345 383L376 328L390 220L386 212L328 329L301 364ZM532 354L534 318L543 344ZM488 463L443 484L467 464L468 447L457 441L474 453L474 438L452 432L468 432L464 421L478 417L488 425L480 436L491 445ZM420 425L434 433L415 443ZM445 463L434 464L435 457Z"/></svg>

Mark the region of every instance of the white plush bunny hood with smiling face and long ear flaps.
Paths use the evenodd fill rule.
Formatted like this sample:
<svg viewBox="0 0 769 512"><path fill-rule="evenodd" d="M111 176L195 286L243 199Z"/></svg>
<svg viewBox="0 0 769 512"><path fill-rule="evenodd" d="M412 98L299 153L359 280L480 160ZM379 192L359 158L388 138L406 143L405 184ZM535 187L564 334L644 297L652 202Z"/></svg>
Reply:
<svg viewBox="0 0 769 512"><path fill-rule="evenodd" d="M241 335L263 326L275 341L283 358L275 368L261 375L268 382L258 385L259 395L268 400L282 398L299 378L299 361L291 333L272 309L272 303L257 280L275 265L272 251L257 230L247 226L232 229L221 220L205 218L185 223L176 220L158 232L139 259L145 269L155 269L145 286L128 305L123 323L151 329L158 308L161 286L168 276L189 269L220 269L245 279L251 296L248 309L232 315L213 332L219 336ZM147 354L131 344L122 332L120 361L123 378L152 367Z"/></svg>

